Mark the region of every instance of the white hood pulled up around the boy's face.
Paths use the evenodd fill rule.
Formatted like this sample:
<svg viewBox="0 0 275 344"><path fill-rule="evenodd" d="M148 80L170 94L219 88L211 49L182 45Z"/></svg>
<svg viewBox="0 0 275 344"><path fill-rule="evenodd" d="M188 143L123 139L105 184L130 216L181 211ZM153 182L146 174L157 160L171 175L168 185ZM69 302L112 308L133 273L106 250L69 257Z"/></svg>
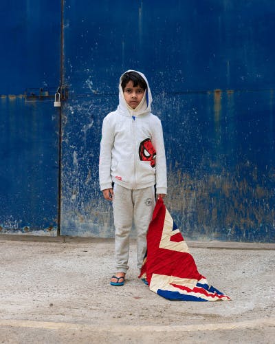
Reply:
<svg viewBox="0 0 275 344"><path fill-rule="evenodd" d="M136 72L137 74L140 74L140 76L144 78L144 81L146 82L146 85L147 85L146 91L144 93L144 97L142 98L142 101L135 109L132 109L126 103L123 90L122 90L122 85L121 85L122 76L127 72ZM137 70L133 70L133 69L127 70L126 72L122 74L122 76L120 76L118 111L121 111L128 116L140 116L140 115L148 114L149 112L151 112L152 94L151 94L151 89L149 87L146 76L144 76L144 74L142 74L141 72L137 72Z"/></svg>

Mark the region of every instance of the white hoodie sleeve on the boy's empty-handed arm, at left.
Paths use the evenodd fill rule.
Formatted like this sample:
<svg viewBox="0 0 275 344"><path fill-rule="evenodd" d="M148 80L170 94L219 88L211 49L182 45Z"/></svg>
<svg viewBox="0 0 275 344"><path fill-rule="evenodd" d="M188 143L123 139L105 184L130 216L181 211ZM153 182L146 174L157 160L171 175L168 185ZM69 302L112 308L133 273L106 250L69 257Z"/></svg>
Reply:
<svg viewBox="0 0 275 344"><path fill-rule="evenodd" d="M110 116L102 123L102 138L100 142L99 183L100 190L111 189L111 150L113 148L114 130Z"/></svg>

